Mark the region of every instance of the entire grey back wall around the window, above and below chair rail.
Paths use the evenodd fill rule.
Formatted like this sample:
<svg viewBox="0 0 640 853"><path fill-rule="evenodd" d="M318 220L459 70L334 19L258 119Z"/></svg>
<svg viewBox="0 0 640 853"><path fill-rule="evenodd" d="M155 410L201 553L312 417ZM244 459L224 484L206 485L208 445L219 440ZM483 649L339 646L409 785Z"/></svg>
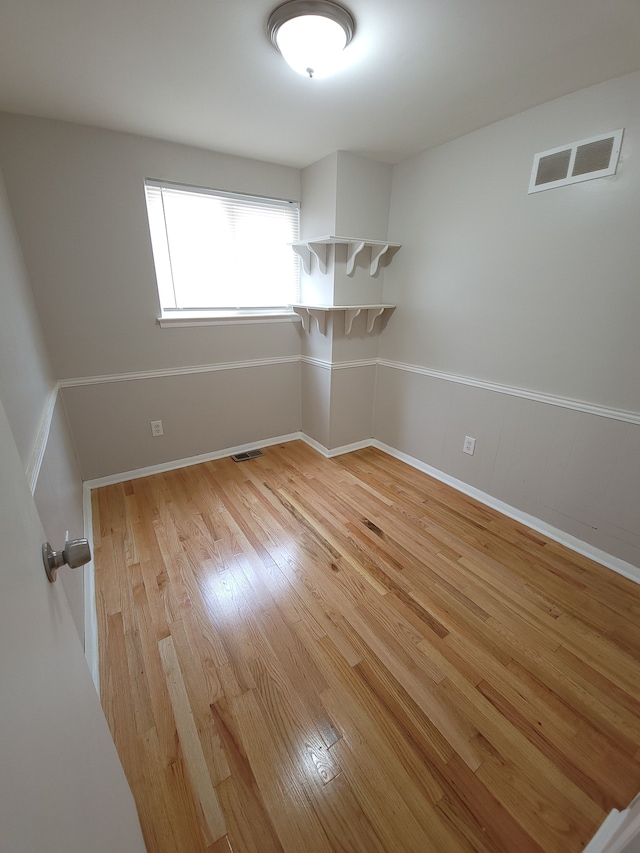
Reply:
<svg viewBox="0 0 640 853"><path fill-rule="evenodd" d="M298 323L157 325L143 186L162 178L295 200L297 169L6 114L0 164L56 378L143 374L63 391L84 479L300 429L299 373L287 362L299 356ZM238 362L224 375L144 377ZM163 420L163 439L150 419Z"/></svg>

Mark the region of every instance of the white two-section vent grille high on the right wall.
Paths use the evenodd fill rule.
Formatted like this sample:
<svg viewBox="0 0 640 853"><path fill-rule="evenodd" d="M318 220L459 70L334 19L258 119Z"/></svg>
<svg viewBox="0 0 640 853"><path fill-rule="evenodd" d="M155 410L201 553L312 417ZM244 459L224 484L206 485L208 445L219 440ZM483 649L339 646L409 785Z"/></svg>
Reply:
<svg viewBox="0 0 640 853"><path fill-rule="evenodd" d="M539 193L578 181L615 175L623 130L612 130L571 145L542 151L533 158L529 192Z"/></svg>

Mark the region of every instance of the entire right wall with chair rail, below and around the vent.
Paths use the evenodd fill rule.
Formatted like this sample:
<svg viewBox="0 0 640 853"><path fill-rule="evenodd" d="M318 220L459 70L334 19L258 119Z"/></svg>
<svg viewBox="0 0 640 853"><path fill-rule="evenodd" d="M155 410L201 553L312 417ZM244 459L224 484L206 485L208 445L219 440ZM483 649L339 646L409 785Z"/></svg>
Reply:
<svg viewBox="0 0 640 853"><path fill-rule="evenodd" d="M527 195L536 152L619 127L616 176ZM635 74L395 167L402 249L384 298L398 308L374 423L379 440L636 566L639 151Z"/></svg>

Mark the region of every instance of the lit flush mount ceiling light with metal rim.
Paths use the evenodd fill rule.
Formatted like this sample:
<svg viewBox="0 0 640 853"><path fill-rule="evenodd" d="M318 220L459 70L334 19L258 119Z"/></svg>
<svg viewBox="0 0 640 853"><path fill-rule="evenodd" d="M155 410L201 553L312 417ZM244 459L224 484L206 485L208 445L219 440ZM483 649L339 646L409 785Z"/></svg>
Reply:
<svg viewBox="0 0 640 853"><path fill-rule="evenodd" d="M273 10L267 30L294 71L308 77L326 77L336 70L355 26L351 13L337 3L292 0Z"/></svg>

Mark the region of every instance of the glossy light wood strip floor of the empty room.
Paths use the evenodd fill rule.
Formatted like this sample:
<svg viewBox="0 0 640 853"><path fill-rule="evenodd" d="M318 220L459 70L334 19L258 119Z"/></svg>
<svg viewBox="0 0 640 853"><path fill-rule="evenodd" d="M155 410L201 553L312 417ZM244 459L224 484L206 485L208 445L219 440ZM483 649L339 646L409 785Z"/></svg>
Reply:
<svg viewBox="0 0 640 853"><path fill-rule="evenodd" d="M640 791L640 587L385 454L93 492L149 851L582 850Z"/></svg>

